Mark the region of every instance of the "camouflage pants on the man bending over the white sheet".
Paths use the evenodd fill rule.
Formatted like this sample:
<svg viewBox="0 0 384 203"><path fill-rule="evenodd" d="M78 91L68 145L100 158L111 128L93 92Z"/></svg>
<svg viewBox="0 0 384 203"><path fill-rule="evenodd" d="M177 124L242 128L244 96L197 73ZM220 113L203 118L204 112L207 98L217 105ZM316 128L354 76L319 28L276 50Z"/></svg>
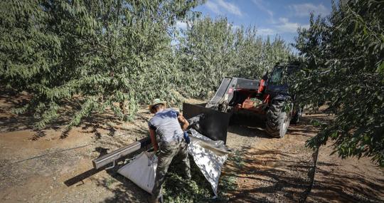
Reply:
<svg viewBox="0 0 384 203"><path fill-rule="evenodd" d="M152 189L153 199L161 197L161 188L166 177L166 172L168 171L168 167L174 157L181 160L184 175L186 178L191 179L191 166L189 165L186 141L184 139L180 139L173 142L161 143L160 153L157 157L158 161L154 188Z"/></svg>

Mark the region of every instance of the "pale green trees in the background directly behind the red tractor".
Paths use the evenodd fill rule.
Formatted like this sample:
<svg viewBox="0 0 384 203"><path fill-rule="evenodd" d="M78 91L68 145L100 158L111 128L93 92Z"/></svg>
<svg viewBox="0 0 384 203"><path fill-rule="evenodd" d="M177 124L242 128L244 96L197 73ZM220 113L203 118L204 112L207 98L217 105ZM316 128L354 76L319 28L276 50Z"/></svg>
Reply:
<svg viewBox="0 0 384 203"><path fill-rule="evenodd" d="M223 17L194 21L179 41L176 64L187 84L181 92L201 98L218 88L225 76L261 78L291 55L282 39L263 40L256 28L237 28Z"/></svg>

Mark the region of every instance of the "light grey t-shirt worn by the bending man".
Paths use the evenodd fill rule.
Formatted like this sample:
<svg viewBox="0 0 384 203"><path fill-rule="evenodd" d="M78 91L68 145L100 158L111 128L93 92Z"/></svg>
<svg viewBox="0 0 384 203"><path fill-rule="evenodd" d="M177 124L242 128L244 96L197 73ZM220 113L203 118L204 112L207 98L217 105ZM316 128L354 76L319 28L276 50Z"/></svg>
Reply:
<svg viewBox="0 0 384 203"><path fill-rule="evenodd" d="M160 141L171 142L183 137L180 123L178 123L178 112L171 108L166 108L157 112L148 125L152 130L156 130Z"/></svg>

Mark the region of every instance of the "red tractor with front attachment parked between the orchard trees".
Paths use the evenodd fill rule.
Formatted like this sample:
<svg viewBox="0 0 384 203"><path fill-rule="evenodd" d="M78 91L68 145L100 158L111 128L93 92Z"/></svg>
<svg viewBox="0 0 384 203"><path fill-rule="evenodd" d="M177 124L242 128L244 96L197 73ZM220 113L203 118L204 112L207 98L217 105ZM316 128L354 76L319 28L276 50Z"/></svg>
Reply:
<svg viewBox="0 0 384 203"><path fill-rule="evenodd" d="M298 66L275 66L261 80L224 78L209 103L184 103L186 118L205 115L199 122L202 134L214 140L226 140L229 123L265 127L272 137L284 137L289 123L297 123L302 108L294 105L285 79Z"/></svg>

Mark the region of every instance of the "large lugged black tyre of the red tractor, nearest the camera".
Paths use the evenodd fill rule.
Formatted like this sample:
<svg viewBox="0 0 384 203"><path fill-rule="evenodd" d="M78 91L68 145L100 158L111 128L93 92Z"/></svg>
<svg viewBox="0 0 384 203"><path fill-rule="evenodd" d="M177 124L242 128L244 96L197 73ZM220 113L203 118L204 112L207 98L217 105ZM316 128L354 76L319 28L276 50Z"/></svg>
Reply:
<svg viewBox="0 0 384 203"><path fill-rule="evenodd" d="M273 100L270 109L267 111L267 133L272 137L284 137L289 126L289 114L283 110L284 101Z"/></svg>

